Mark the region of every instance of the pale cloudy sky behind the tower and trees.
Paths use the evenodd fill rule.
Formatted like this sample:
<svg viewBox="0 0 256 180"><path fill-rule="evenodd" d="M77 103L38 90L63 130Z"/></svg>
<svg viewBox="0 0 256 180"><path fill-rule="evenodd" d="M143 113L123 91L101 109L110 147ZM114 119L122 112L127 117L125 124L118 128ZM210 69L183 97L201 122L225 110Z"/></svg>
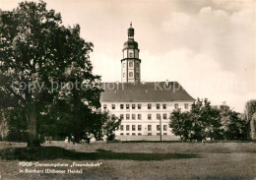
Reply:
<svg viewBox="0 0 256 180"><path fill-rule="evenodd" d="M12 10L20 0L0 0ZM132 22L141 79L179 82L194 98L243 112L256 99L254 0L45 0L63 24L79 24L94 43L91 61L102 82L121 81L121 58Z"/></svg>

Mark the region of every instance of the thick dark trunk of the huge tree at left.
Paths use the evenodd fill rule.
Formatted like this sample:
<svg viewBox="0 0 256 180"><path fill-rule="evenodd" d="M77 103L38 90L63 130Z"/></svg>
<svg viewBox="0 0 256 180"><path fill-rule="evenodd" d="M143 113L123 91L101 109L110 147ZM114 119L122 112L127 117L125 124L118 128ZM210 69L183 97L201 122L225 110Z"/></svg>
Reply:
<svg viewBox="0 0 256 180"><path fill-rule="evenodd" d="M38 134L37 134L37 119L36 119L36 111L34 104L30 104L27 106L27 138L28 138L28 147L40 147Z"/></svg>

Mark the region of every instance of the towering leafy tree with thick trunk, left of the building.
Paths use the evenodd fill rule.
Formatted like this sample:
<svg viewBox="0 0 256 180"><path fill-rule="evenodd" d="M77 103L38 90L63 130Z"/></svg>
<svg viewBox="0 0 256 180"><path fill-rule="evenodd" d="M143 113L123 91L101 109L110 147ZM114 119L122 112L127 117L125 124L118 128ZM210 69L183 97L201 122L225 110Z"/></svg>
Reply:
<svg viewBox="0 0 256 180"><path fill-rule="evenodd" d="M38 119L63 117L49 114L53 106L68 104L64 112L78 126L84 104L88 109L100 106L100 90L81 88L99 80L92 74L92 48L78 25L64 27L60 14L47 10L43 1L22 2L1 13L0 91L23 108L29 147L39 146Z"/></svg>

